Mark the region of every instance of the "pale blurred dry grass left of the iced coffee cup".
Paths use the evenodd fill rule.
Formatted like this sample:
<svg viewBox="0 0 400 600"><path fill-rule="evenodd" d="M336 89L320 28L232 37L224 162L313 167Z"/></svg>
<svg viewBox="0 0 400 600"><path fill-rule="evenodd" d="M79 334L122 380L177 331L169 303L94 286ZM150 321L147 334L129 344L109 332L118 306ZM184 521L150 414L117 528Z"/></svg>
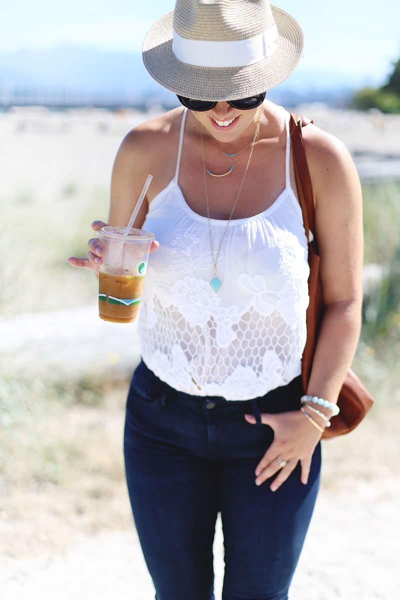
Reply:
<svg viewBox="0 0 400 600"><path fill-rule="evenodd" d="M68 265L69 256L86 256L93 235L91 223L107 215L107 190L88 196L53 197L53 205L32 196L5 202L0 225L0 309L12 315L88 304L89 277Z"/></svg>

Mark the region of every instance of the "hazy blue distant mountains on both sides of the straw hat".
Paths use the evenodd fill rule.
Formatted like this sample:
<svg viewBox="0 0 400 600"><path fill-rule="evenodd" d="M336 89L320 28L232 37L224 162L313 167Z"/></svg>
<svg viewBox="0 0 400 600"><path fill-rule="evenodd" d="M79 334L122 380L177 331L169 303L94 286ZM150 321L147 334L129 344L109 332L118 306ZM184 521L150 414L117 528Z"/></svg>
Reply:
<svg viewBox="0 0 400 600"><path fill-rule="evenodd" d="M143 101L151 98L176 105L176 98L149 76L142 56L94 48L59 46L52 50L19 50L0 55L0 96L23 90L62 90ZM297 70L268 97L282 104L335 101L353 89L350 76Z"/></svg>

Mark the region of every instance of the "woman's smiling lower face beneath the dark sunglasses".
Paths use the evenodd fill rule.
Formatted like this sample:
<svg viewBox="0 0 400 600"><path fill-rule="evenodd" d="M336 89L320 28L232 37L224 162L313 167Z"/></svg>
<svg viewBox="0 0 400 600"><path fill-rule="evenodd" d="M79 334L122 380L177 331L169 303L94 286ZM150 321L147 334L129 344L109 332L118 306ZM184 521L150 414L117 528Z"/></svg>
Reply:
<svg viewBox="0 0 400 600"><path fill-rule="evenodd" d="M255 121L261 109L262 104L251 110L237 110L227 102L217 102L211 110L192 110L191 114L203 125L207 134L218 142L234 142L241 137L254 135ZM251 123L254 127L249 127Z"/></svg>

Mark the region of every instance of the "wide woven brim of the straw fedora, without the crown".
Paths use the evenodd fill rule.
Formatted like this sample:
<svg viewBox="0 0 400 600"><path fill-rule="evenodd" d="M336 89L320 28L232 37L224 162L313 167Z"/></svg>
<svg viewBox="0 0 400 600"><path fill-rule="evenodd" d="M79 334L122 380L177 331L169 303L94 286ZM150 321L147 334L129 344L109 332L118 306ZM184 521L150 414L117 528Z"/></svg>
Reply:
<svg viewBox="0 0 400 600"><path fill-rule="evenodd" d="M175 94L197 100L234 100L261 94L287 79L303 56L299 23L271 5L278 28L275 52L245 67L197 67L179 61L172 50L173 11L154 23L143 43L143 62L151 76Z"/></svg>

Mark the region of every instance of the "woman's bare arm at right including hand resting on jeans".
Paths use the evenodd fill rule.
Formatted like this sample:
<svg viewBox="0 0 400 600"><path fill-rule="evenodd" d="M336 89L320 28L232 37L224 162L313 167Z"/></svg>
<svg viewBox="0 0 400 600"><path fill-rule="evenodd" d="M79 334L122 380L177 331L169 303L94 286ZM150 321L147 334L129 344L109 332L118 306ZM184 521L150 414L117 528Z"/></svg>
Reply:
<svg viewBox="0 0 400 600"><path fill-rule="evenodd" d="M362 197L356 168L345 146L313 125L306 127L303 137L314 190L325 305L307 391L336 403L360 333ZM318 409L331 414L323 407ZM246 421L254 424L254 416L246 415ZM278 473L270 484L271 490L277 490L297 461L302 467L301 481L306 484L321 432L298 410L278 415L263 413L261 422L272 427L274 437L255 469L256 484ZM279 463L282 460L288 461L283 468Z"/></svg>

